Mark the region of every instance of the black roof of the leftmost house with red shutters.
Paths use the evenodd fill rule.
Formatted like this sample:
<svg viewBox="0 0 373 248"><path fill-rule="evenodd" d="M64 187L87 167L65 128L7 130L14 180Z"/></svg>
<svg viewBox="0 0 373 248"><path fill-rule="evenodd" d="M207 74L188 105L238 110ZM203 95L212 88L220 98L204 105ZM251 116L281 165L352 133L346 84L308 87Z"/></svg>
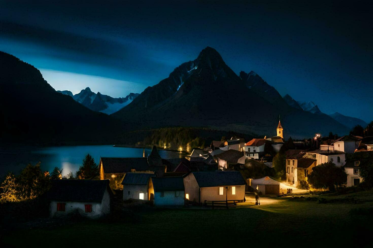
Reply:
<svg viewBox="0 0 373 248"><path fill-rule="evenodd" d="M51 189L47 192L49 200L69 202L101 202L109 179L106 180L51 180Z"/></svg>

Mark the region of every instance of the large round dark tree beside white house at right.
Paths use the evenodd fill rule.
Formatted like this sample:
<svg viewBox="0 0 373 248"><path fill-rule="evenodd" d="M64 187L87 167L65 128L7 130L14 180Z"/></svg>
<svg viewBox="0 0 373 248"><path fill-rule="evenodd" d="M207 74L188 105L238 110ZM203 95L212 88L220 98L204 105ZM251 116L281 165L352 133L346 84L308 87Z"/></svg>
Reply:
<svg viewBox="0 0 373 248"><path fill-rule="evenodd" d="M320 164L312 168L308 175L308 183L314 188L328 188L335 190L335 186L342 186L347 183L347 174L341 167L336 167L333 162Z"/></svg>

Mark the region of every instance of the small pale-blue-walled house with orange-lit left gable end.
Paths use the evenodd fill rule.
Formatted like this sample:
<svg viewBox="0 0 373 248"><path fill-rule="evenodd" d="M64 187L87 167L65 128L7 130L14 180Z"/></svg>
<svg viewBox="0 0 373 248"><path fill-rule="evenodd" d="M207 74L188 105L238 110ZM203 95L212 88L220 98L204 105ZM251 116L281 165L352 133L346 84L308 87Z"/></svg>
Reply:
<svg viewBox="0 0 373 248"><path fill-rule="evenodd" d="M150 177L148 192L154 195L154 206L184 206L182 177Z"/></svg>

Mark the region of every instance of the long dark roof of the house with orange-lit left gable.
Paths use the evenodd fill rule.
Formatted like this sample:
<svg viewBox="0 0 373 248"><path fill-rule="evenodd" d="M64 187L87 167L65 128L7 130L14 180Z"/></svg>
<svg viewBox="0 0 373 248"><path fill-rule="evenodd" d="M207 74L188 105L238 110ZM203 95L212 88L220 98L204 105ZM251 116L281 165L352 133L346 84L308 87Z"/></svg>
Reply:
<svg viewBox="0 0 373 248"><path fill-rule="evenodd" d="M147 158L101 158L101 162L104 173L127 173L131 172L131 169L149 170Z"/></svg>

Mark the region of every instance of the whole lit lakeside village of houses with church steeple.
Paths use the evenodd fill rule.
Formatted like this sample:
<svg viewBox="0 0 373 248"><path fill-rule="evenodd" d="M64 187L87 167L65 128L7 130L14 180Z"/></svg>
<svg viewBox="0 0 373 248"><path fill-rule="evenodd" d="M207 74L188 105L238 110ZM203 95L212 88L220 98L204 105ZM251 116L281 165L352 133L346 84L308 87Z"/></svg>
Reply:
<svg viewBox="0 0 373 248"><path fill-rule="evenodd" d="M372 152L372 136L322 139L316 134L311 142L284 141L280 121L276 134L248 142L236 136L213 141L210 147L194 148L180 159L162 159L155 146L147 156L144 149L142 158L101 157L99 180L53 180L47 192L50 217L75 212L100 218L110 215L113 199L120 199L122 207L131 202L161 208L229 209L252 206L245 202L254 203L254 199L258 205L262 196L307 192L313 168L325 163L347 174L340 186L358 186L363 181L360 161L347 160L346 155ZM278 154L285 155L283 160L276 160ZM269 172L275 166L282 168L283 180Z"/></svg>

